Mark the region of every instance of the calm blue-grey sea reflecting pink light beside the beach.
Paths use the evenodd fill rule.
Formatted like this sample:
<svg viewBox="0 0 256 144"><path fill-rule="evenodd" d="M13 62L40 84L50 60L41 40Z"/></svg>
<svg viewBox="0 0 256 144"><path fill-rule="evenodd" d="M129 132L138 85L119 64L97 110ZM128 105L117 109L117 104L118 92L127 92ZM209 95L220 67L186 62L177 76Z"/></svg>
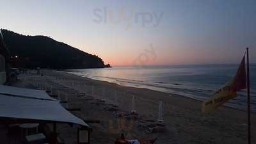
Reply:
<svg viewBox="0 0 256 144"><path fill-rule="evenodd" d="M123 86L148 88L160 92L205 100L236 73L238 65L175 65L114 67L68 70L78 76L109 81ZM256 112L256 65L250 65L252 110ZM246 92L239 92L227 106L246 109Z"/></svg>

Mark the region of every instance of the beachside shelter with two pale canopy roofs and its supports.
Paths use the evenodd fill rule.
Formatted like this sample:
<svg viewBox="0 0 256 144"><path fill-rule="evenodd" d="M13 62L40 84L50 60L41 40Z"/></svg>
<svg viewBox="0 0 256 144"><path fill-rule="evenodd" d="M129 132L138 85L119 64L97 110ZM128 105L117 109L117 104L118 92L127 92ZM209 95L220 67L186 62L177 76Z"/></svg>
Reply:
<svg viewBox="0 0 256 144"><path fill-rule="evenodd" d="M0 122L1 124L19 125L26 143L60 143L56 124L77 124L77 143L90 143L92 128L63 108L59 100L53 99L46 92L27 88L0 85ZM38 125L52 124L51 138L44 132L38 132ZM26 129L35 128L35 133L28 135ZM52 138L52 136L54 138ZM24 142L20 142L24 143Z"/></svg>

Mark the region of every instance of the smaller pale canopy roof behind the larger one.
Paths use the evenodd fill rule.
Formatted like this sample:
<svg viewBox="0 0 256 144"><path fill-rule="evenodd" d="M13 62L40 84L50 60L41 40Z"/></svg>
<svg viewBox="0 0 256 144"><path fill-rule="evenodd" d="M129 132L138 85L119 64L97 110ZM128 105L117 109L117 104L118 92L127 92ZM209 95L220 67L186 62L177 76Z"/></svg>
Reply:
<svg viewBox="0 0 256 144"><path fill-rule="evenodd" d="M17 88L13 86L0 85L0 94L4 95L16 95L20 97L30 97L33 99L45 99L45 100L56 100L47 95L42 90L32 90L28 88Z"/></svg>

